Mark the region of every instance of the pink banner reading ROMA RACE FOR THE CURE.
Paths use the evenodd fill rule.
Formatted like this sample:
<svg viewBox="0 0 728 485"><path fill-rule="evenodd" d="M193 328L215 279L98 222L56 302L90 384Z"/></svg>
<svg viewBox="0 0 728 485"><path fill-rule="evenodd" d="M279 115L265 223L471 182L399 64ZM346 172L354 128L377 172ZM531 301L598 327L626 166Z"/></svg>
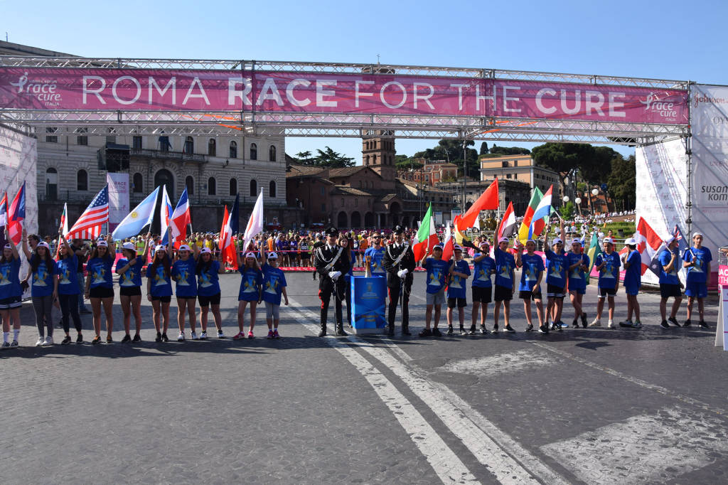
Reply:
<svg viewBox="0 0 728 485"><path fill-rule="evenodd" d="M258 111L687 125L688 93L395 74L0 68L0 109Z"/></svg>

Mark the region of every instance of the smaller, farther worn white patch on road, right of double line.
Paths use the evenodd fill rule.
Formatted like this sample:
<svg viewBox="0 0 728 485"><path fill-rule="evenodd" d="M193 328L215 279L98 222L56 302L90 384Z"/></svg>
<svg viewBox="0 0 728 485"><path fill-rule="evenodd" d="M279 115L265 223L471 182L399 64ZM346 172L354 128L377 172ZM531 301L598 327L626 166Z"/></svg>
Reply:
<svg viewBox="0 0 728 485"><path fill-rule="evenodd" d="M457 374L475 374L478 376L492 376L505 372L528 370L538 366L556 363L546 352L533 350L516 350L488 357L448 360L438 371L456 372Z"/></svg>

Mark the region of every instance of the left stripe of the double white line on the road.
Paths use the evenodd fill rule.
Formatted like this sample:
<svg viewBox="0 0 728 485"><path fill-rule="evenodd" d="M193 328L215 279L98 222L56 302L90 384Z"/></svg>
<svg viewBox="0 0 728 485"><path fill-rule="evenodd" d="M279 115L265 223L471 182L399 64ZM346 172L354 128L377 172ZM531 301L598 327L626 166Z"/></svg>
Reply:
<svg viewBox="0 0 728 485"><path fill-rule="evenodd" d="M288 300L291 304L297 305L290 297ZM300 305L298 306L300 307ZM306 318L309 317L300 308L289 307L288 309ZM318 333L319 328L317 326L310 323L302 323L302 325L313 334ZM368 363L359 352L347 344L339 342L335 337L328 336L325 338L325 342L338 350L364 376L381 401L395 415L397 421L400 422L400 425L408 433L411 440L432 466L432 470L435 471L444 484L480 483L462 460L440 438L440 435L427 423L422 414L392 385L387 377L381 374L371 363Z"/></svg>

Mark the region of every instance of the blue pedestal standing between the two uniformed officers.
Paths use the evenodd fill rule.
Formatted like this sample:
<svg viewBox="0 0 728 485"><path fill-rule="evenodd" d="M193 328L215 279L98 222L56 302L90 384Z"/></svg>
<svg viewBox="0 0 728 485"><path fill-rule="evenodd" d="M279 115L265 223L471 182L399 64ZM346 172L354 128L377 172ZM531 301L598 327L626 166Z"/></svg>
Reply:
<svg viewBox="0 0 728 485"><path fill-rule="evenodd" d="M352 327L355 334L381 334L387 326L387 278L351 278Z"/></svg>

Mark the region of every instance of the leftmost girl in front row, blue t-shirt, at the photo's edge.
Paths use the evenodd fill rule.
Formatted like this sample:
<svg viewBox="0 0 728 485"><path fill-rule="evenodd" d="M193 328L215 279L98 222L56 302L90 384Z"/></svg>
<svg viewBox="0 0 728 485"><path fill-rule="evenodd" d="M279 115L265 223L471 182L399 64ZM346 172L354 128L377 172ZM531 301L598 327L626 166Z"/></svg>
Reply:
<svg viewBox="0 0 728 485"><path fill-rule="evenodd" d="M0 349L18 346L20 336L20 306L23 304L23 288L20 287L20 254L5 226L7 244L0 256L0 318L2 318L3 342ZM13 337L10 341L10 326Z"/></svg>

